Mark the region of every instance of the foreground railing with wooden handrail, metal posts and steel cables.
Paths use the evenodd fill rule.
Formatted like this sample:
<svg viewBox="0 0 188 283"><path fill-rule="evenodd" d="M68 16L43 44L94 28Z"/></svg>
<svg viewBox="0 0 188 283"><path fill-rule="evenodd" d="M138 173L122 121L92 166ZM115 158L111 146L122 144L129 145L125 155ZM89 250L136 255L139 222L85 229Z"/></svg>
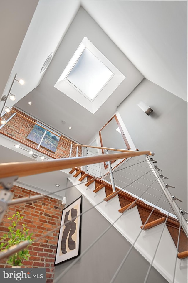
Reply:
<svg viewBox="0 0 188 283"><path fill-rule="evenodd" d="M85 145L83 145L83 147L85 147ZM91 148L97 148L97 147L91 147ZM107 149L107 148L104 148L104 149ZM36 200L39 197L41 197L41 198L43 197L43 195L39 195L39 196L31 197L31 198L11 200L12 195L9 191L10 191L10 188L12 187L12 185L13 185L14 180L16 180L18 177L34 175L34 174L39 174L39 173L44 173L44 172L51 172L51 171L56 171L56 170L62 170L62 169L71 168L71 167L80 167L80 166L85 166L85 165L90 165L90 164L100 164L100 163L103 163L103 162L109 162L109 161L112 161L112 160L119 160L119 159L126 159L127 160L126 163L128 163L128 161L130 160L131 157L146 156L146 162L150 167L150 172L152 172L153 175L155 176L158 184L160 185L160 187L162 189L162 193L167 197L167 200L170 203L170 208L173 209L174 213L176 214L176 216L179 220L179 223L180 223L179 226L180 227L182 226L185 234L188 237L187 221L185 220L185 218L183 216L185 212L184 212L184 210L180 210L178 208L176 202L174 201L177 198L170 194L170 192L168 190L168 188L170 186L168 184L165 184L165 182L163 181L163 179L166 178L166 177L164 177L161 173L159 173L159 172L161 172L161 170L157 167L157 165L155 164L155 161L152 159L152 157L150 157L150 155L153 155L153 153L151 153L150 151L130 151L130 150L122 150L122 149L108 149L108 150L115 150L115 151L120 151L120 152L125 151L125 152L115 153L115 154L98 155L98 156L94 156L94 157L73 157L73 158L68 158L68 159L56 159L56 160L48 160L48 161L43 161L43 162L13 162L13 163L0 164L0 183L4 187L4 189L0 191L0 199L1 199L0 200L0 203L1 203L0 216L1 216L1 219L4 215L6 208L9 205L14 205L14 204L18 204L18 203L21 203L21 202L27 202L27 201L31 202L31 200ZM121 165L118 165L118 166L120 167ZM139 165L137 165L137 166L139 166ZM111 164L109 164L110 174L111 175L113 174L113 176L114 176L115 172L116 173L118 172L119 167L116 167L116 171L115 170L111 171L110 170ZM105 176L101 176L101 177L106 178L106 176L108 176L108 175L109 174L107 172L105 174ZM113 180L113 178L111 178L111 181L112 180ZM137 179L133 180L133 182L134 183L137 182ZM131 184L128 184L128 185L130 186ZM123 188L120 188L120 190L123 190ZM116 190L115 191L113 190L112 194L116 195L116 194L118 194L118 192ZM141 194L141 196L142 195L143 195L143 193ZM112 195L110 197L112 197ZM138 199L140 199L140 196L137 198L137 200ZM136 200L135 200L135 202L136 202ZM134 205L134 204L132 203L131 205ZM130 206L127 209L130 209ZM85 213L85 212L83 212L83 213ZM170 209L169 209L169 212L170 212ZM169 212L167 214L167 217L169 215ZM167 217L166 217L166 221L167 221ZM149 217L147 218L147 221L148 221L148 219L149 219ZM147 221L144 223L142 229L144 229ZM55 231L56 229L57 229L57 227L54 230L47 233L46 235L41 236L40 238L47 236L50 233L53 233L53 231ZM103 233L105 233L105 231ZM140 235L140 233L139 233L139 235ZM37 240L39 240L40 238L38 238ZM98 239L96 239L91 246L93 246L97 240ZM178 242L179 242L179 238L178 238ZM20 243L16 247L12 247L11 249L7 249L6 251L1 252L0 253L0 259L15 253L16 251L18 251L20 249L23 249L27 245L28 245L28 242L25 241L23 243ZM133 243L132 247L133 246L134 246L134 243ZM90 248L90 247L88 247L88 248ZM177 245L177 250L178 250L178 245ZM127 253L125 258L123 259L122 264L127 259L127 256L128 256L129 253L130 253L130 251ZM84 251L83 254L85 254L85 251ZM78 261L78 259L76 259L74 261L74 263L76 261ZM121 266L122 266L122 264L121 264ZM69 269L70 269L71 266L72 266L72 264L69 266ZM121 266L120 266L120 268L121 268ZM114 277L112 278L110 283L114 282L118 272L119 272L119 270L117 270L116 274L114 275ZM149 270L148 270L148 272L149 272ZM65 271L63 272L63 274L65 274ZM148 277L148 274L147 274L147 277ZM62 276L62 274L61 274L61 276ZM145 279L145 282L147 281L147 277ZM56 278L54 283L55 282L58 282L58 278ZM174 282L174 280L173 280L173 282Z"/></svg>

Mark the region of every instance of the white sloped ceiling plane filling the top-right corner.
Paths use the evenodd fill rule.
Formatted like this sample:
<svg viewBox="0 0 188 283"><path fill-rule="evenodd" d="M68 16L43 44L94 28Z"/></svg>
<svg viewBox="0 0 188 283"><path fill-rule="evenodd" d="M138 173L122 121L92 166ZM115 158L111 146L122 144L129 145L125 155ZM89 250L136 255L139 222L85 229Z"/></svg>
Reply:
<svg viewBox="0 0 188 283"><path fill-rule="evenodd" d="M145 78L187 101L187 1L81 1Z"/></svg>

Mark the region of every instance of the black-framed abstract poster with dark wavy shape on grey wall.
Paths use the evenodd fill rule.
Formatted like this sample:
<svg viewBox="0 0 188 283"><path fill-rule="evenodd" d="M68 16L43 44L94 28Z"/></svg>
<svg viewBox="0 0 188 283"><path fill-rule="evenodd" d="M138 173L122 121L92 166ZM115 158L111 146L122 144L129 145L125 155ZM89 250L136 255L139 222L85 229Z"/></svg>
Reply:
<svg viewBox="0 0 188 283"><path fill-rule="evenodd" d="M82 196L63 209L54 266L80 255Z"/></svg>

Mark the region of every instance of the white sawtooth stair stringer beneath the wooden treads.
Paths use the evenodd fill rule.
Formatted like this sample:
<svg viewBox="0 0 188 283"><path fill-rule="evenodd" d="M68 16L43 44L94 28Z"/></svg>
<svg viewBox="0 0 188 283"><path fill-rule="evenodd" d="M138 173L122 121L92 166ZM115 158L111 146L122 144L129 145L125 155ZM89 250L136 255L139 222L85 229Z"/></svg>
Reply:
<svg viewBox="0 0 188 283"><path fill-rule="evenodd" d="M92 205L96 205L95 208L111 224L113 224L113 226L127 239L127 241L133 244L141 231L140 226L142 226L142 221L137 207L127 210L125 213L119 213L118 210L120 209L120 203L118 195L107 202L103 201L106 197L105 188L94 193L93 190L95 189L95 182L86 187L85 184L79 182L78 179L79 176L75 178L73 175L70 175L68 177L68 180L76 186L81 194L84 195ZM119 219L117 220L117 218ZM141 231L141 234L134 245L135 249L137 249L137 251L139 251L140 254L142 254L142 256L144 256L150 263L152 262L164 225L165 224L162 223L150 228L149 230ZM160 245L157 249L152 265L170 283L173 281L176 253L176 246L167 226L165 225ZM184 261L184 267L182 268L182 260L177 258L175 283L187 283L186 263L187 262Z"/></svg>

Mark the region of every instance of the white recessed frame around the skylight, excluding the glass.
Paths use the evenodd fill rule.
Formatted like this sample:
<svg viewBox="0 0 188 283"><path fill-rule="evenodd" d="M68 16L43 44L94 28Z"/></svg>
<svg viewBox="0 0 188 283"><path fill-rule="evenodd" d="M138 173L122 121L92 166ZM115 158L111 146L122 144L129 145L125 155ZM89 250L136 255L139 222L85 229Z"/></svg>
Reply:
<svg viewBox="0 0 188 283"><path fill-rule="evenodd" d="M68 96L74 102L83 106L87 111L95 114L126 77L92 42L90 42L90 40L88 40L86 36L82 40L80 39L80 45L77 46L78 47L75 46L75 50L70 53L68 58L69 61L64 65L64 70L60 74L54 87L63 93L63 95ZM108 82L105 83L103 88L100 89L99 93L92 99L92 101L90 98L86 98L80 89L74 87L72 83L69 83L69 81L66 80L68 73L70 73L73 66L76 64L85 47L87 47L89 51L114 74L109 78Z"/></svg>

